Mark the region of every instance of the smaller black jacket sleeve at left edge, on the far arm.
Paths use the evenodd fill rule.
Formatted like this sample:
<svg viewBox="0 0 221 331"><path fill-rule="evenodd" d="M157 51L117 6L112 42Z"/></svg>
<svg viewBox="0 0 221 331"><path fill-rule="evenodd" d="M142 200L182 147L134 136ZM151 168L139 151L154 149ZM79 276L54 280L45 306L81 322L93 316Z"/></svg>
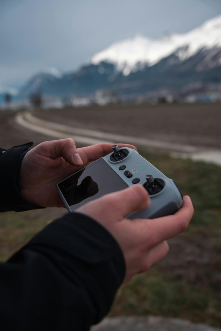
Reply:
<svg viewBox="0 0 221 331"><path fill-rule="evenodd" d="M19 186L22 160L32 145L30 142L9 150L0 148L0 212L22 212L42 208L24 200Z"/></svg>

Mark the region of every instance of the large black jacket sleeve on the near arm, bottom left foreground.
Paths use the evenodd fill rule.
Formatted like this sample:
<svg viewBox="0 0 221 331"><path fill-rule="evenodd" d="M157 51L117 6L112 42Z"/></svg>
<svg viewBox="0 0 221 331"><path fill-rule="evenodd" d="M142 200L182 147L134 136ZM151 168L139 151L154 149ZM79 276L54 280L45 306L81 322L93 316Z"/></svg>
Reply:
<svg viewBox="0 0 221 331"><path fill-rule="evenodd" d="M124 275L108 231L67 214L0 264L1 330L89 330L109 311Z"/></svg>

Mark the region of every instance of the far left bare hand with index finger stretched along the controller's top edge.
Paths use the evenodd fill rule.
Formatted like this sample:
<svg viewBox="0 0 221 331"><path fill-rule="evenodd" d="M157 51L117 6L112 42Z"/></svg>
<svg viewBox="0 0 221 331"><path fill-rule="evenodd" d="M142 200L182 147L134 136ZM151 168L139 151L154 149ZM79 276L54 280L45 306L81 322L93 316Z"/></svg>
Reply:
<svg viewBox="0 0 221 331"><path fill-rule="evenodd" d="M118 144L134 148L132 145ZM111 153L112 144L97 144L76 149L73 139L45 141L24 157L20 170L22 197L41 207L64 207L56 184L72 173Z"/></svg>

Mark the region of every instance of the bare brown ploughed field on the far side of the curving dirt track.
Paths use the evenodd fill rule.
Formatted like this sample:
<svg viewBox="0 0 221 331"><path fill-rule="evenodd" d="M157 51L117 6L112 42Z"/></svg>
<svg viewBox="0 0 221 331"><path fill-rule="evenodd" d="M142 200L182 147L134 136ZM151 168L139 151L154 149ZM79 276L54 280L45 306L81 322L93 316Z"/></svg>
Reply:
<svg viewBox="0 0 221 331"><path fill-rule="evenodd" d="M115 105L47 110L47 121L108 133L203 147L221 147L221 103Z"/></svg>

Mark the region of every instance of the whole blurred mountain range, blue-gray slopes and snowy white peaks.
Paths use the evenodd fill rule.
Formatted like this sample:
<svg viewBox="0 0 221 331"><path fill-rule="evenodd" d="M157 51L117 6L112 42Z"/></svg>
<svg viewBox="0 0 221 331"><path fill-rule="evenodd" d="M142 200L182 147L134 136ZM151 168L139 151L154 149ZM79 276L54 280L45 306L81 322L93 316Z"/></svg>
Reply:
<svg viewBox="0 0 221 331"><path fill-rule="evenodd" d="M95 54L78 71L34 75L19 98L33 93L90 96L99 89L128 99L167 90L175 97L218 91L221 85L221 16L185 34L161 39L136 36Z"/></svg>

